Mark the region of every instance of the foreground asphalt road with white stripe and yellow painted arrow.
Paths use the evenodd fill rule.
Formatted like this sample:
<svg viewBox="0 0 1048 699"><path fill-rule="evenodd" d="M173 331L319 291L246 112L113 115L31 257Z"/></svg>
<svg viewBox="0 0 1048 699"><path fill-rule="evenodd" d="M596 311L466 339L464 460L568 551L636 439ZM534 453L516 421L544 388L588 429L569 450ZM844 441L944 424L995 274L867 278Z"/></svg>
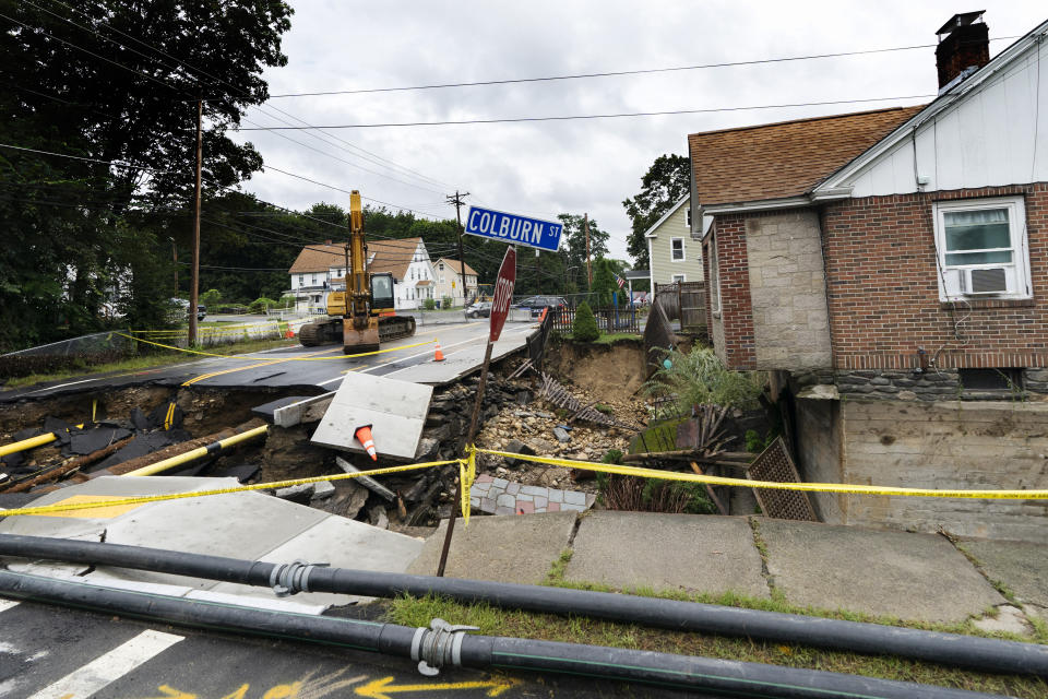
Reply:
<svg viewBox="0 0 1048 699"><path fill-rule="evenodd" d="M562 675L425 677L409 659L0 599L0 697L12 699L682 696Z"/></svg>

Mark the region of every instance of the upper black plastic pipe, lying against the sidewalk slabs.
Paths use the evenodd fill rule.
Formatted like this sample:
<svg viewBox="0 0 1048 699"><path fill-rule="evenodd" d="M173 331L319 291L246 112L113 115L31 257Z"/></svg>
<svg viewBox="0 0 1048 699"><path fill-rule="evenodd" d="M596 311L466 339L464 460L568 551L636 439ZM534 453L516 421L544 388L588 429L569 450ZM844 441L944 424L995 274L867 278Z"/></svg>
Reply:
<svg viewBox="0 0 1048 699"><path fill-rule="evenodd" d="M679 631L741 636L874 655L895 655L984 672L1048 677L1048 645L843 621L821 617L641 597L567 588L239 560L120 544L43 536L0 535L0 555L152 570L288 591L373 597L434 594L558 614L641 624Z"/></svg>

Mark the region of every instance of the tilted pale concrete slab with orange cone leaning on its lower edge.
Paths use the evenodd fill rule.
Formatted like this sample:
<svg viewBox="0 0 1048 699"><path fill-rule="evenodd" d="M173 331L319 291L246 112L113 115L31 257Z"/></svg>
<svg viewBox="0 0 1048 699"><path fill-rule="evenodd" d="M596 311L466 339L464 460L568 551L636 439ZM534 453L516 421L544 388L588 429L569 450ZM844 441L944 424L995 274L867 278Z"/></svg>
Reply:
<svg viewBox="0 0 1048 699"><path fill-rule="evenodd" d="M422 436L433 389L370 374L347 374L320 420L314 445L367 453L354 434L371 425L376 450L383 457L412 460Z"/></svg>

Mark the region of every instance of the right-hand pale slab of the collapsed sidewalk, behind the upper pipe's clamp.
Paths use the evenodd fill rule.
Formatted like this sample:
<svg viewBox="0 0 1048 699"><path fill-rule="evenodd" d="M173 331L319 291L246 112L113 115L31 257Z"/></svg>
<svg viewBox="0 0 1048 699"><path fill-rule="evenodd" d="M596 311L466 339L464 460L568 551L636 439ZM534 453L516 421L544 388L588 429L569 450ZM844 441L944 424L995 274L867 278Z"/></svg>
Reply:
<svg viewBox="0 0 1048 699"><path fill-rule="evenodd" d="M424 545L425 542L421 538L332 516L255 560L285 564L305 560L331 564L336 568L405 572L421 553ZM233 583L221 583L212 588L212 592L226 594L253 594L258 591L258 588ZM342 605L372 600L372 597L318 592L299 593L294 599L299 603L322 605Z"/></svg>

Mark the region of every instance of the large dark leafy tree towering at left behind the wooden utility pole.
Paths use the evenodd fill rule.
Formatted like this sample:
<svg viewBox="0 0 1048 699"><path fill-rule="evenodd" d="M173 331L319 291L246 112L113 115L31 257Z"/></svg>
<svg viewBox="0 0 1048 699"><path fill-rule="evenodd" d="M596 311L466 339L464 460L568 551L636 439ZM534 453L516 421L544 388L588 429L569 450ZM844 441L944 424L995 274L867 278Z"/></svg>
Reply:
<svg viewBox="0 0 1048 699"><path fill-rule="evenodd" d="M195 98L206 97L210 202L262 165L226 131L269 96L263 70L287 62L291 10L277 0L4 8L0 143L88 159L0 149L0 347L98 329L111 299L126 322L147 327L174 292L170 239L189 248Z"/></svg>

